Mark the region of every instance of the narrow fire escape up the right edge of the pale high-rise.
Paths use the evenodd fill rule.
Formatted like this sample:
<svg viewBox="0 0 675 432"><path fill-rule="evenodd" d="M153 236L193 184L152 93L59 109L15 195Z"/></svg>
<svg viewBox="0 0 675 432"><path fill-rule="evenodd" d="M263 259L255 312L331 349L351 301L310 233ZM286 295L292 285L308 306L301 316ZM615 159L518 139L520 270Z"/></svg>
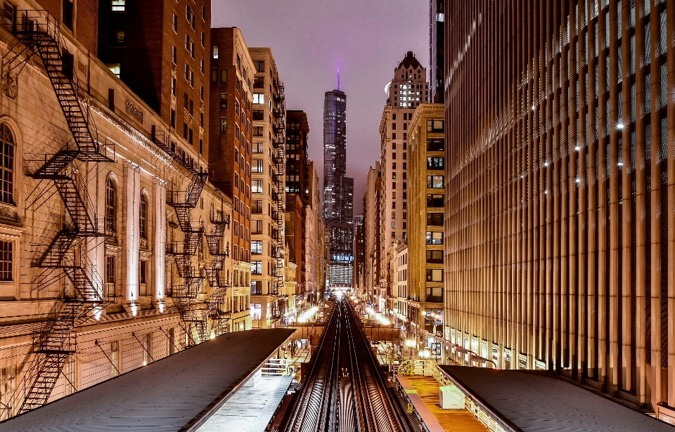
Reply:
<svg viewBox="0 0 675 432"><path fill-rule="evenodd" d="M281 308L283 301L286 296L283 292L283 223L285 217L285 202L284 202L284 190L285 190L285 142L286 142L286 103L285 96L283 93L283 81L276 81L276 95L274 95L274 154L272 156L272 161L276 168L276 174L274 176L274 183L276 184L276 192L274 192L272 199L276 204L276 211L273 212L274 216L274 239L276 240L276 249L274 251L274 270L272 277L274 282L272 282L272 295L274 300L272 301L271 308L271 320L277 322L283 319L284 311Z"/></svg>

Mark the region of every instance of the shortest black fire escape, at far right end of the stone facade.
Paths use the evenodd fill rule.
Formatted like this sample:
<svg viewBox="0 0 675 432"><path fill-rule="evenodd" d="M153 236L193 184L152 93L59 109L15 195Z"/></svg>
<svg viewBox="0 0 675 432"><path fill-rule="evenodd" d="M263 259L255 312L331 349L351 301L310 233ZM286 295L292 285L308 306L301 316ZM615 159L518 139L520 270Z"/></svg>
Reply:
<svg viewBox="0 0 675 432"><path fill-rule="evenodd" d="M211 223L213 228L205 237L212 260L204 270L206 280L213 292L210 296L207 296L204 302L207 305L208 318L212 322L212 333L219 336L229 332L232 315L231 310L227 310L229 308L226 307L227 289L231 287L231 284L229 277L223 277L222 275L223 270L225 270L225 258L230 255L230 244L225 240L225 229L230 227L230 215L223 214L223 212L211 214Z"/></svg>

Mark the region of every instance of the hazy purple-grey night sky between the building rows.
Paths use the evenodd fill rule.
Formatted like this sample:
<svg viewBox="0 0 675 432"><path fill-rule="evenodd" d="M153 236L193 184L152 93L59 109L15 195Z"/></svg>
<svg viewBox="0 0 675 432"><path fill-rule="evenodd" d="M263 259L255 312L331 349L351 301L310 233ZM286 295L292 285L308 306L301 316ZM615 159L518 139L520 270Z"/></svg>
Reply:
<svg viewBox="0 0 675 432"><path fill-rule="evenodd" d="M385 85L406 51L429 65L428 0L213 0L212 26L239 27L272 48L288 110L309 118L309 158L323 184L323 93L347 93L347 176L362 213L368 167L380 159ZM322 186L323 187L323 186Z"/></svg>

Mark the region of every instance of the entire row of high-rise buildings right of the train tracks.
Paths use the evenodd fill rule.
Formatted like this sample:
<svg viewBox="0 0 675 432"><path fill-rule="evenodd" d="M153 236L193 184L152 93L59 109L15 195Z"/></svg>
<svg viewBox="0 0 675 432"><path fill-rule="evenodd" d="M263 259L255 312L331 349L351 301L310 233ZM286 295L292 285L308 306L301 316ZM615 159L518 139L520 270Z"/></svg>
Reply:
<svg viewBox="0 0 675 432"><path fill-rule="evenodd" d="M355 286L402 338L675 421L674 17L430 2L431 69L409 53L387 84L356 229Z"/></svg>

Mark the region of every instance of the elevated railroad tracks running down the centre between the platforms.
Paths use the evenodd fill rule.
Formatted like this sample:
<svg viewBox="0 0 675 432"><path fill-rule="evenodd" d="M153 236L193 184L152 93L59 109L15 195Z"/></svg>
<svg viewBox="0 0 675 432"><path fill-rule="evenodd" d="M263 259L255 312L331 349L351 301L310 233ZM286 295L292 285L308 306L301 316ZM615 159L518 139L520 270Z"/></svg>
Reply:
<svg viewBox="0 0 675 432"><path fill-rule="evenodd" d="M288 432L407 432L354 309L336 301L307 379L288 410Z"/></svg>

